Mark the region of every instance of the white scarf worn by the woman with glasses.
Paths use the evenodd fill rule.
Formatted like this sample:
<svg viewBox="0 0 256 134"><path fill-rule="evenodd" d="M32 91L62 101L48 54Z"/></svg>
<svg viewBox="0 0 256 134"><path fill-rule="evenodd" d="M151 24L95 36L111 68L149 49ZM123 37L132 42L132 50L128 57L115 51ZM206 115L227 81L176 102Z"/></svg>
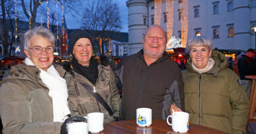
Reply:
<svg viewBox="0 0 256 134"><path fill-rule="evenodd" d="M34 65L29 58L25 59L25 63L26 65ZM53 65L47 69L47 72L42 69L40 71L39 77L49 88L49 96L53 99L53 122L64 122L67 115L70 114L66 80L60 77Z"/></svg>

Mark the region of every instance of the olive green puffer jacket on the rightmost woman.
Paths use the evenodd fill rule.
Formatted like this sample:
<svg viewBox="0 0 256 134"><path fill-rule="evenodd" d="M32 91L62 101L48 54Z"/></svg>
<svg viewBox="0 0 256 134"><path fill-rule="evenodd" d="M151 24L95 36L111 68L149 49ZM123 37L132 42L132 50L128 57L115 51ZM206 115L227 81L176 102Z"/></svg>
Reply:
<svg viewBox="0 0 256 134"><path fill-rule="evenodd" d="M240 78L228 69L228 60L213 50L213 68L201 75L192 69L192 59L182 72L185 110L189 122L227 133L245 133L249 101Z"/></svg>

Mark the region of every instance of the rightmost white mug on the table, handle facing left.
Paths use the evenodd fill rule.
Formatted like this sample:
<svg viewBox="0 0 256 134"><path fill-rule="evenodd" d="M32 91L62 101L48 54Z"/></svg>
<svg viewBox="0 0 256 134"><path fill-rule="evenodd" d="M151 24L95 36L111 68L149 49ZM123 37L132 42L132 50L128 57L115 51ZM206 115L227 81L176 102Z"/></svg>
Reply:
<svg viewBox="0 0 256 134"><path fill-rule="evenodd" d="M169 123L169 117L171 117L171 123ZM167 124L172 126L173 131L185 133L189 129L188 123L189 114L186 112L174 112L172 115L169 115L166 119Z"/></svg>

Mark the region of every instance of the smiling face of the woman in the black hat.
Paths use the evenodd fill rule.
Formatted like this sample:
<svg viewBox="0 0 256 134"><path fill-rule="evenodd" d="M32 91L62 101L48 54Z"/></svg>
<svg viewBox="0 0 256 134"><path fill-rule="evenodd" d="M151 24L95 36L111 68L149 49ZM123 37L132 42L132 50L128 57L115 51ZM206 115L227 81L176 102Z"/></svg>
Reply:
<svg viewBox="0 0 256 134"><path fill-rule="evenodd" d="M73 54L78 63L83 66L89 65L91 56L93 55L93 46L91 41L87 38L80 38L77 40L73 48Z"/></svg>

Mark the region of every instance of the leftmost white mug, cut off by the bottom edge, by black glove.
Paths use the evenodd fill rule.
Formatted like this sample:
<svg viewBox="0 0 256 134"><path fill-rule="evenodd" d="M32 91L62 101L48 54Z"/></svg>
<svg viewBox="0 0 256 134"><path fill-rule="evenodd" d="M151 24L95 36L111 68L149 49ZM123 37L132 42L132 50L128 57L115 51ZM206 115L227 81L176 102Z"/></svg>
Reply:
<svg viewBox="0 0 256 134"><path fill-rule="evenodd" d="M85 122L68 124L68 134L88 134L88 126Z"/></svg>

